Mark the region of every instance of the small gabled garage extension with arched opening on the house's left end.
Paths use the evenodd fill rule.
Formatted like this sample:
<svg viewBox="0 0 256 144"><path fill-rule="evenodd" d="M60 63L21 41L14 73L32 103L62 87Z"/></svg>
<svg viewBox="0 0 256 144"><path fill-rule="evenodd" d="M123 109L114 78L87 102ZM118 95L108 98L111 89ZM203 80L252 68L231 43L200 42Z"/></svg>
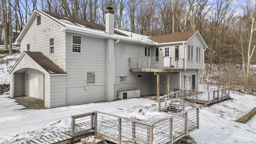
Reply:
<svg viewBox="0 0 256 144"><path fill-rule="evenodd" d="M10 97L38 98L47 108L66 105L66 72L41 52L23 52L9 74Z"/></svg>

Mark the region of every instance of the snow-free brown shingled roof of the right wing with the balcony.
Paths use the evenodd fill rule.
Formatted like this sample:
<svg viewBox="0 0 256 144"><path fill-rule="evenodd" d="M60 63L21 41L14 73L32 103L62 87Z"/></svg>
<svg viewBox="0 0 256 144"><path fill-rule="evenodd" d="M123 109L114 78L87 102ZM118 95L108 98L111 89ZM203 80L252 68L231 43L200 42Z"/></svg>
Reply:
<svg viewBox="0 0 256 144"><path fill-rule="evenodd" d="M154 42L158 43L166 43L166 42L180 42L180 41L186 41L191 36L193 36L198 30L192 30L188 32L180 32L176 34L166 34L162 36L153 36L150 37L150 40L153 40Z"/></svg>

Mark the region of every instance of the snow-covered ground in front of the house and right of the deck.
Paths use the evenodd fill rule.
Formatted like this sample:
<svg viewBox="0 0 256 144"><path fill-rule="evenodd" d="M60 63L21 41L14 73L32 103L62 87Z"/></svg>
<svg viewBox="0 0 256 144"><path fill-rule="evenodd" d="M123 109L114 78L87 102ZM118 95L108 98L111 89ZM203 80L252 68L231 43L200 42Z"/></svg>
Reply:
<svg viewBox="0 0 256 144"><path fill-rule="evenodd" d="M200 108L200 129L190 133L198 144L256 143L256 116L246 124L233 121L256 106L256 97L237 92L230 92L230 96L233 100ZM150 111L157 105L153 100L132 98L44 110L21 110L23 106L8 98L8 94L3 94L0 96L0 144L20 143L70 130L70 116L75 114L94 110L122 114L124 111L122 115L127 118L132 115L140 118L142 115L138 111L141 108L145 115L154 114Z"/></svg>

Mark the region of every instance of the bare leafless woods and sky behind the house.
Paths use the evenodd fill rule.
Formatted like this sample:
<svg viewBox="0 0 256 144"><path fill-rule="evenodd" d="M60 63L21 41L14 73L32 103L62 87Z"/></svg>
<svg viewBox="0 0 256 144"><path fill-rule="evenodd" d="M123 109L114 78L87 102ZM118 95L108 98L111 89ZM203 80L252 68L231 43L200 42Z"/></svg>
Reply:
<svg viewBox="0 0 256 144"><path fill-rule="evenodd" d="M245 89L256 87L249 86L254 82L250 64L256 64L255 0L1 0L0 44L11 42L10 35L24 28L33 9L104 25L108 6L121 30L148 36L199 30L208 45L202 78L211 77L212 64L218 77L226 66L240 64L239 82Z"/></svg>

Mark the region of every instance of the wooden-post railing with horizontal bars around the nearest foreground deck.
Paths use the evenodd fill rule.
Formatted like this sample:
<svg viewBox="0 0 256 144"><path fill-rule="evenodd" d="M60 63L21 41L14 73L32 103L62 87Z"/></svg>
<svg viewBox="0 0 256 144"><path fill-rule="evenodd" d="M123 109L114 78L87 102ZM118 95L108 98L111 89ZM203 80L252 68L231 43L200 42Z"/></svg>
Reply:
<svg viewBox="0 0 256 144"><path fill-rule="evenodd" d="M172 144L199 127L199 108L184 100L178 102L182 102L181 110L175 107L178 113L169 113L165 118L154 117L153 121L98 111L72 116L72 134L94 130L95 135L99 134L105 140L117 144Z"/></svg>

